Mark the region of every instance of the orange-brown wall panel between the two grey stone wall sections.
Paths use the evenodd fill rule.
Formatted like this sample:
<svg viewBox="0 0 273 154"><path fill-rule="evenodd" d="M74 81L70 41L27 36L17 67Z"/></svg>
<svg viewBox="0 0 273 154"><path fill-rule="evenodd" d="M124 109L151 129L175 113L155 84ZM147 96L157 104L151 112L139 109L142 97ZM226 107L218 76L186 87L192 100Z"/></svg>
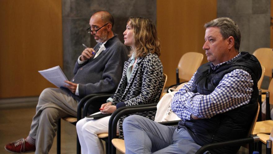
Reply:
<svg viewBox="0 0 273 154"><path fill-rule="evenodd" d="M204 23L217 17L217 0L157 0L157 30L161 41L167 86L175 84L175 69L186 52L199 52L204 43ZM207 61L204 55L205 63Z"/></svg>

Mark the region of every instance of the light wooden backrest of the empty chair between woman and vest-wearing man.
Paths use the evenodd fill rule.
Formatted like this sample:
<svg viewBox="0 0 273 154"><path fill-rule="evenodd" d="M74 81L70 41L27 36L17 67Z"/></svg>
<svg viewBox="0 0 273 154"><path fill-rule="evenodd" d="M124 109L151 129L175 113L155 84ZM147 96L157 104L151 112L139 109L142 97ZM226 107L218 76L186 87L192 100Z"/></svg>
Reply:
<svg viewBox="0 0 273 154"><path fill-rule="evenodd" d="M190 78L197 71L203 61L204 55L197 52L187 52L178 63L179 78L183 81L190 81Z"/></svg>

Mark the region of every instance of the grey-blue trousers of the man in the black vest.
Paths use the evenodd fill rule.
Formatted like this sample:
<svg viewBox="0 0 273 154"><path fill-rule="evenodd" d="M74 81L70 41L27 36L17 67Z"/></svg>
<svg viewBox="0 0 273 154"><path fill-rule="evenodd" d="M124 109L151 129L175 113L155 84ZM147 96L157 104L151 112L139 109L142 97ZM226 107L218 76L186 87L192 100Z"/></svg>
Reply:
<svg viewBox="0 0 273 154"><path fill-rule="evenodd" d="M201 146L185 128L175 128L148 118L131 115L123 121L126 154L191 154Z"/></svg>

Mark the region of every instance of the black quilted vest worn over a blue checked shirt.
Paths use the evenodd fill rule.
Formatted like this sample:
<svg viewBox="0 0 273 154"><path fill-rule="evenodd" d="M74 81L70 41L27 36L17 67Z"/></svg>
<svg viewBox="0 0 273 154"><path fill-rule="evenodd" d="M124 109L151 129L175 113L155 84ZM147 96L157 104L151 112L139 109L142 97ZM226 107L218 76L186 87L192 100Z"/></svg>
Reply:
<svg viewBox="0 0 273 154"><path fill-rule="evenodd" d="M256 57L241 52L241 55L232 60L232 63L223 64L212 70L210 63L200 66L195 74L192 92L208 95L214 91L225 74L235 69L247 71L254 82L253 93L248 104L234 110L217 114L209 119L182 120L179 128L185 127L194 141L203 146L212 142L228 141L244 138L257 111L258 88L257 82L261 77L262 68ZM210 150L211 153L236 153L240 146L224 147Z"/></svg>

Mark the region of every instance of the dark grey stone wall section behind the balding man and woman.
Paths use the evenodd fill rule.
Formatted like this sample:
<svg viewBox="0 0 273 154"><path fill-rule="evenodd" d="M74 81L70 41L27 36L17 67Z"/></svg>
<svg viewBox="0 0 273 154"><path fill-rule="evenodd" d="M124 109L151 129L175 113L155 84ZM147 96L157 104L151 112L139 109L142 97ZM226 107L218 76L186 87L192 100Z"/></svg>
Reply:
<svg viewBox="0 0 273 154"><path fill-rule="evenodd" d="M63 70L71 79L78 56L84 47L96 45L87 33L89 19L94 12L105 10L114 16L114 33L123 41L123 31L130 16L141 16L156 24L156 0L62 0ZM128 48L129 49L129 48Z"/></svg>

